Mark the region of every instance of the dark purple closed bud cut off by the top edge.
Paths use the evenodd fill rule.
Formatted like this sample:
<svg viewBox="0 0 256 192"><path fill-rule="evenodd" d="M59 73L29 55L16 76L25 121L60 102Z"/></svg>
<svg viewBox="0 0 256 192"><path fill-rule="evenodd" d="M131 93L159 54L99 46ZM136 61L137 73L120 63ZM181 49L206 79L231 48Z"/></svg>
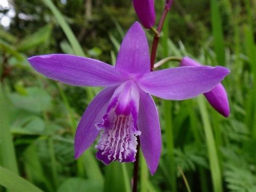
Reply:
<svg viewBox="0 0 256 192"><path fill-rule="evenodd" d="M133 0L133 6L142 25L152 28L156 22L154 0Z"/></svg>

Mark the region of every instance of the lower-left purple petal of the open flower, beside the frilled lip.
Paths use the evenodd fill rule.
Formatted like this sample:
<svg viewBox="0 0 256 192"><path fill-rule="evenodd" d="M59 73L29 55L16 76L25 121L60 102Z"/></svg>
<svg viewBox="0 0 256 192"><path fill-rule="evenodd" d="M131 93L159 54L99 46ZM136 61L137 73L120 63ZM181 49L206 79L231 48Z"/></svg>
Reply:
<svg viewBox="0 0 256 192"><path fill-rule="evenodd" d="M101 121L115 89L116 86L103 89L83 113L75 135L75 159L80 157L97 138L99 130L95 124Z"/></svg>

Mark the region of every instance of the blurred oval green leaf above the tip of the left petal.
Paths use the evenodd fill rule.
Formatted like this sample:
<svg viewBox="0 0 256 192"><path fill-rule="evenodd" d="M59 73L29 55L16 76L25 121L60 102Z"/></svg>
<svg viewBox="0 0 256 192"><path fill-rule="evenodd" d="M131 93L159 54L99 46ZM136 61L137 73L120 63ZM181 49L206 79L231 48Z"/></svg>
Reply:
<svg viewBox="0 0 256 192"><path fill-rule="evenodd" d="M49 38L51 32L52 32L52 25L50 24L40 28L37 32L25 37L22 40L22 42L20 42L17 45L17 50L26 51L30 48L33 48L41 44L42 42L45 42Z"/></svg>

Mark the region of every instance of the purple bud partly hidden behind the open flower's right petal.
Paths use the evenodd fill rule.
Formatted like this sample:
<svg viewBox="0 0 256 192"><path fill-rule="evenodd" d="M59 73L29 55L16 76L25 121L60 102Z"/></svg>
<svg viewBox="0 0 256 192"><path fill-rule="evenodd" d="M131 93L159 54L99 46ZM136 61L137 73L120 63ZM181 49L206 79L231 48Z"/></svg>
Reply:
<svg viewBox="0 0 256 192"><path fill-rule="evenodd" d="M193 67L193 66L202 66L202 65L189 57L183 57L183 59L180 62L180 66ZM219 83L211 91L204 93L204 96L216 111L218 111L224 117L229 116L229 104L228 104L227 92L221 83Z"/></svg>

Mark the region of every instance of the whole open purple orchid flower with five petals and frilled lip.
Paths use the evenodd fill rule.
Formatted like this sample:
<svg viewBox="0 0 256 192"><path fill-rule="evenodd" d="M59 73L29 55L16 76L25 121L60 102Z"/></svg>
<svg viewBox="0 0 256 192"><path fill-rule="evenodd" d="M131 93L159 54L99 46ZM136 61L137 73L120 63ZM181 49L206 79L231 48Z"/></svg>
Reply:
<svg viewBox="0 0 256 192"><path fill-rule="evenodd" d="M224 67L180 67L151 72L145 33L138 22L126 33L113 67L99 60L66 54L28 59L39 73L74 86L106 86L88 105L75 135L77 159L100 133L97 159L105 164L134 162L136 136L153 175L161 153L158 112L150 94L183 100L214 88Z"/></svg>

